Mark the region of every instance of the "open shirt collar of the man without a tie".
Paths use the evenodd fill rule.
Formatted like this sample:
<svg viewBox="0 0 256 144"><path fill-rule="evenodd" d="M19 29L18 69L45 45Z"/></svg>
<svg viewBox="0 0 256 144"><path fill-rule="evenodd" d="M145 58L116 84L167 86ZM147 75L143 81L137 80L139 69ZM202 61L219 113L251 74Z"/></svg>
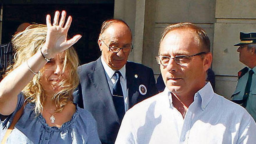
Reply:
<svg viewBox="0 0 256 144"><path fill-rule="evenodd" d="M173 107L172 95L171 95L170 90L167 87L165 87L165 89L163 90L163 94L168 95L169 100L170 100L170 107ZM196 96L201 97L201 99L202 99L201 108L202 108L202 110L205 110L206 106L209 104L209 102L211 101L211 99L214 96L214 91L211 87L211 83L207 82L204 87L202 87L200 90L198 90L198 92L196 92L194 95L194 100L195 100Z"/></svg>

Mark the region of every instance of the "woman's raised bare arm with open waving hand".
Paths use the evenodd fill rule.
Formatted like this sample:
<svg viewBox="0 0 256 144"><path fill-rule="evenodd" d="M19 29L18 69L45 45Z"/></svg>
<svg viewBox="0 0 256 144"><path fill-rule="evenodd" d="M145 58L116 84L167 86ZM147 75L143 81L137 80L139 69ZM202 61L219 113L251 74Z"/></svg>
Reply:
<svg viewBox="0 0 256 144"><path fill-rule="evenodd" d="M0 82L0 113L2 115L13 113L17 105L17 95L32 80L33 72L36 73L44 67L47 63L46 59L53 58L56 54L65 51L81 38L81 35L75 35L72 39L67 40L72 17L69 16L65 24L66 12L62 11L60 20L59 15L59 11L56 11L53 24L51 24L50 15L46 16L47 35L43 47Z"/></svg>

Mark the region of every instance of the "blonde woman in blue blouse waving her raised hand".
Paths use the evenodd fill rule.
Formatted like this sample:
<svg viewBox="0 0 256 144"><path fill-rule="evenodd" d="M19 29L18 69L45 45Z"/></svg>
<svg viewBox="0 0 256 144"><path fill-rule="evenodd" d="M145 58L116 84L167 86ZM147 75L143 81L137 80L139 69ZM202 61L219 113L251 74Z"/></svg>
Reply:
<svg viewBox="0 0 256 144"><path fill-rule="evenodd" d="M67 40L72 18L65 24L66 12L59 15L12 39L15 61L0 83L1 139L22 114L6 143L100 143L93 116L73 104L78 57L71 46L81 35Z"/></svg>

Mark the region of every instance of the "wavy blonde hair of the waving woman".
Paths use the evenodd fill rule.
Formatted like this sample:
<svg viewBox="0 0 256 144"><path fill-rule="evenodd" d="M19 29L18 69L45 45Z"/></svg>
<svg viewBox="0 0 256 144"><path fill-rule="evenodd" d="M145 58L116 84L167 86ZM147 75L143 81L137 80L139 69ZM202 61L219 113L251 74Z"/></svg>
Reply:
<svg viewBox="0 0 256 144"><path fill-rule="evenodd" d="M47 27L44 24L30 25L26 30L17 33L12 38L12 44L15 51L14 63L8 67L6 75L13 71L16 67L25 63L45 44ZM58 83L61 90L55 93L52 100L55 100L56 112L62 111L68 102L73 101L73 90L78 86L79 79L77 74L78 56L73 47L65 50L62 55L65 56L62 73L65 72L65 79L61 79ZM45 90L40 83L40 77L44 73L44 68L40 73L36 74L33 79L22 90L27 102L35 103L35 113L39 114L43 111L43 103L45 100Z"/></svg>

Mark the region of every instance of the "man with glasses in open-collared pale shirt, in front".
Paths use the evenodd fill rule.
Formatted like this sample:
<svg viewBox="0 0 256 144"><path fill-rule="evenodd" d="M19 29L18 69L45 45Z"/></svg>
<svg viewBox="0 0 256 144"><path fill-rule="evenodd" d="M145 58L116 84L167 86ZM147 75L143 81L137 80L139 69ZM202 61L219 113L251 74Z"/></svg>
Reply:
<svg viewBox="0 0 256 144"><path fill-rule="evenodd" d="M165 28L159 46L165 90L125 114L115 143L256 143L256 124L206 83L210 40L191 23Z"/></svg>

